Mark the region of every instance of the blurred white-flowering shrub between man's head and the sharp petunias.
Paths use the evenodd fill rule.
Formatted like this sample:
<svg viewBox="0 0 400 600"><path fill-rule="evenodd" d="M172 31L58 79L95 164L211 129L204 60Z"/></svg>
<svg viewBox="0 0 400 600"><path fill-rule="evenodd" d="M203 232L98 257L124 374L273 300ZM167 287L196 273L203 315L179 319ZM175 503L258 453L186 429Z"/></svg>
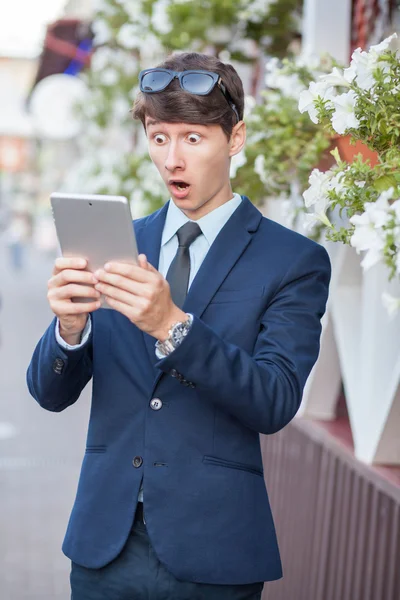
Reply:
<svg viewBox="0 0 400 600"><path fill-rule="evenodd" d="M308 63L300 58L269 59L261 102L253 101L246 115L246 162L237 171L235 189L257 204L266 197L279 198L285 203L288 226L303 219L301 194L311 169L331 145L330 133L299 113L298 99L310 81L331 66L329 59ZM318 227L311 236L318 237Z"/></svg>

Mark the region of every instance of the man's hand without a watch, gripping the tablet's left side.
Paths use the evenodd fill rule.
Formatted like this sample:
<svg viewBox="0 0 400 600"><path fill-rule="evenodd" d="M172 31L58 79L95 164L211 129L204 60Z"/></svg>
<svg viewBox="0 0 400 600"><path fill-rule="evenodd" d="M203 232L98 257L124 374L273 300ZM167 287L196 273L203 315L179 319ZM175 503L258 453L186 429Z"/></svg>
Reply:
<svg viewBox="0 0 400 600"><path fill-rule="evenodd" d="M79 344L88 314L100 308L100 293L93 285L96 277L85 271L83 258L57 258L48 282L50 308L60 322L60 335L72 346ZM72 298L93 298L92 302L72 302Z"/></svg>

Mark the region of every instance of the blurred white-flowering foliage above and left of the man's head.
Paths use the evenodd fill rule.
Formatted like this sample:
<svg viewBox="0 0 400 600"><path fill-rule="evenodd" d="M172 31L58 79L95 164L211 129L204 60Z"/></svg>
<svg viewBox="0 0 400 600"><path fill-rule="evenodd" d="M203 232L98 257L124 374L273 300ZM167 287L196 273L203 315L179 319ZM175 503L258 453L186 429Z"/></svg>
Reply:
<svg viewBox="0 0 400 600"><path fill-rule="evenodd" d="M255 93L263 55L290 54L301 7L301 0L98 0L84 75L90 97L80 107L83 160L66 186L126 195L135 214L161 206L165 187L129 113L139 71L174 50L207 52L254 65Z"/></svg>

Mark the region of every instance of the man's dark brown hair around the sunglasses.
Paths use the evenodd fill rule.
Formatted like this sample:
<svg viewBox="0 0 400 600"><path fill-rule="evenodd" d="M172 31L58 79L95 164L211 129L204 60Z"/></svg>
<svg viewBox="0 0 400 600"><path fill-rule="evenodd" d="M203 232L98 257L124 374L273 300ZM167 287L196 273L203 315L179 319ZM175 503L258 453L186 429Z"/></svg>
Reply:
<svg viewBox="0 0 400 600"><path fill-rule="evenodd" d="M232 65L221 62L215 56L185 52L172 54L157 67L173 71L201 69L218 73L236 105L240 119L243 119L243 84ZM234 111L217 86L207 96L196 96L183 90L177 79L160 93L143 94L139 91L132 116L140 119L144 127L146 116L166 123L219 124L228 140L237 123Z"/></svg>

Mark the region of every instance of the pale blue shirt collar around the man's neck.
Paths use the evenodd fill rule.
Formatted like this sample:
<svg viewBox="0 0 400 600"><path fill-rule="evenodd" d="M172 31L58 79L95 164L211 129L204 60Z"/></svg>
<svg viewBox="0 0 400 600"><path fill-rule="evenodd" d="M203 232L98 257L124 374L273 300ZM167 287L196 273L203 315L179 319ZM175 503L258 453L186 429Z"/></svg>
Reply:
<svg viewBox="0 0 400 600"><path fill-rule="evenodd" d="M231 200L228 200L228 202L225 202L196 221L210 246L241 201L241 196L234 194ZM162 233L161 245L164 246L167 244L174 237L178 229L188 221L190 219L174 204L171 198Z"/></svg>

